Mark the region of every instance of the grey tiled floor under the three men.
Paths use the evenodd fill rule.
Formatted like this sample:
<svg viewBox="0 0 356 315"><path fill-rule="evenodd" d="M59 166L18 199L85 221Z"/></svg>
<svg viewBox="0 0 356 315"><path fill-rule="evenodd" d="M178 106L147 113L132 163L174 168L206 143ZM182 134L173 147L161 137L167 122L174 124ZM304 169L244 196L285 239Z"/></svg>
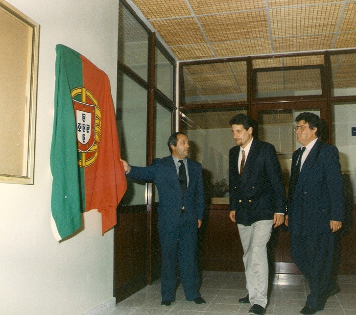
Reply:
<svg viewBox="0 0 356 315"><path fill-rule="evenodd" d="M341 291L330 297L323 311L317 315L356 315L356 276L339 276ZM302 275L275 275L271 286L266 314L299 314L304 307L308 285ZM181 286L171 306L161 306L160 280L117 304L110 315L118 314L248 314L251 305L239 304L247 294L245 275L241 272L204 271L200 289L207 304L188 302Z"/></svg>

